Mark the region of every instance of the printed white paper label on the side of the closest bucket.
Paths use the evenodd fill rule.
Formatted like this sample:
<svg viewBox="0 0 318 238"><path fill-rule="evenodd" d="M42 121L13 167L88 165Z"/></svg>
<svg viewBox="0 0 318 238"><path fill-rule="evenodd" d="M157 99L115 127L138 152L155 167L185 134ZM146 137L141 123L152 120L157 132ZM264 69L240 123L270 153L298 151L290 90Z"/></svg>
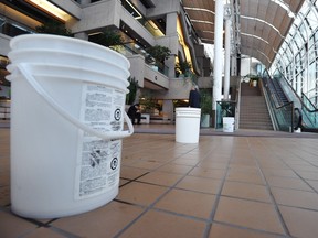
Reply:
<svg viewBox="0 0 318 238"><path fill-rule="evenodd" d="M81 120L98 131L124 127L125 93L97 84L84 84ZM75 199L106 193L119 184L121 140L100 140L80 130Z"/></svg>

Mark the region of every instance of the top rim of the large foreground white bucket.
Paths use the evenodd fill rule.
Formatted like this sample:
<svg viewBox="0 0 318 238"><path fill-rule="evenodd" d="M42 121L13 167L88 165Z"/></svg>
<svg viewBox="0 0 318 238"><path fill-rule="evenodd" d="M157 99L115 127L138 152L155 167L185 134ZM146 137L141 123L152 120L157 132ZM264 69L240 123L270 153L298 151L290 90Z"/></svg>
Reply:
<svg viewBox="0 0 318 238"><path fill-rule="evenodd" d="M53 35L53 34L40 34L40 33L35 33L35 34L23 34L23 35L18 35L18 36L14 36L13 39L10 40L10 48L11 50L14 50L14 45L18 44L19 42L21 41L34 41L34 39L39 39L39 40L42 40L44 42L47 42L49 40L59 40L59 41L63 41L63 42L66 42L66 43L77 43L77 44L81 44L83 46L91 46L91 47L95 47L96 50L100 50L100 51L106 51L106 52L109 52L118 57L121 57L124 61L128 62L128 58L126 58L124 55L121 55L120 53L118 52L115 52L106 46L103 46L103 45L99 45L99 44L96 44L94 42L89 42L89 41L85 41L85 40L82 40L82 39L76 39L76 37L70 37L70 36L63 36L63 35Z"/></svg>

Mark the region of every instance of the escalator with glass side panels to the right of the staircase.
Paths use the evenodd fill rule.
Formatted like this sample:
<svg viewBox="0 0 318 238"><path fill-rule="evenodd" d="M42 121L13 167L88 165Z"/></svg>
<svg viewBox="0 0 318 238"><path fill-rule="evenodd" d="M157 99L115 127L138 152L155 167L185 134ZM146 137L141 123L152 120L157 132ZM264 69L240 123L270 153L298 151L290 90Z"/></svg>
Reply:
<svg viewBox="0 0 318 238"><path fill-rule="evenodd" d="M301 131L318 132L318 109L305 95L300 98L282 74L274 75L271 78L265 71L263 84L275 129L294 132L300 128Z"/></svg>

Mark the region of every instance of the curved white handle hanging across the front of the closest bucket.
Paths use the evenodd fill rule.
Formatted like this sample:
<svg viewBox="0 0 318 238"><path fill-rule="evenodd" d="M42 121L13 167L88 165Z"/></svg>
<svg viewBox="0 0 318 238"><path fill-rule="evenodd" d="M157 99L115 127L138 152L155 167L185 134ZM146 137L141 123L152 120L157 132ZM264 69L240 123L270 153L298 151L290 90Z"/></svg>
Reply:
<svg viewBox="0 0 318 238"><path fill-rule="evenodd" d="M114 139L121 139L125 137L129 137L134 133L134 126L126 113L124 111L124 119L128 126L128 131L107 131L105 133L99 132L95 129L92 129L87 125L83 123L82 121L77 120L73 116L71 116L68 112L66 112L62 107L59 106L59 104L44 90L44 88L38 83L38 80L33 77L31 73L26 69L26 66L22 64L17 64L17 67L19 71L24 75L28 83L34 88L34 90L61 116L63 116L66 120L68 120L71 123L77 126L83 131L86 131L91 134L94 134L98 138L102 138L104 140L114 140Z"/></svg>

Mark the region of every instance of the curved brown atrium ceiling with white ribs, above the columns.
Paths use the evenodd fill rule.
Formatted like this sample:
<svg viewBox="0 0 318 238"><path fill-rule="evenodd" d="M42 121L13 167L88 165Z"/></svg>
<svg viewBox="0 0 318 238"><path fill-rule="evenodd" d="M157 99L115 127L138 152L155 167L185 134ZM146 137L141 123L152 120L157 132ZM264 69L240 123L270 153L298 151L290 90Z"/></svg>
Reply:
<svg viewBox="0 0 318 238"><path fill-rule="evenodd" d="M305 0L231 0L232 45L271 66ZM183 0L183 8L203 43L214 43L214 0Z"/></svg>

